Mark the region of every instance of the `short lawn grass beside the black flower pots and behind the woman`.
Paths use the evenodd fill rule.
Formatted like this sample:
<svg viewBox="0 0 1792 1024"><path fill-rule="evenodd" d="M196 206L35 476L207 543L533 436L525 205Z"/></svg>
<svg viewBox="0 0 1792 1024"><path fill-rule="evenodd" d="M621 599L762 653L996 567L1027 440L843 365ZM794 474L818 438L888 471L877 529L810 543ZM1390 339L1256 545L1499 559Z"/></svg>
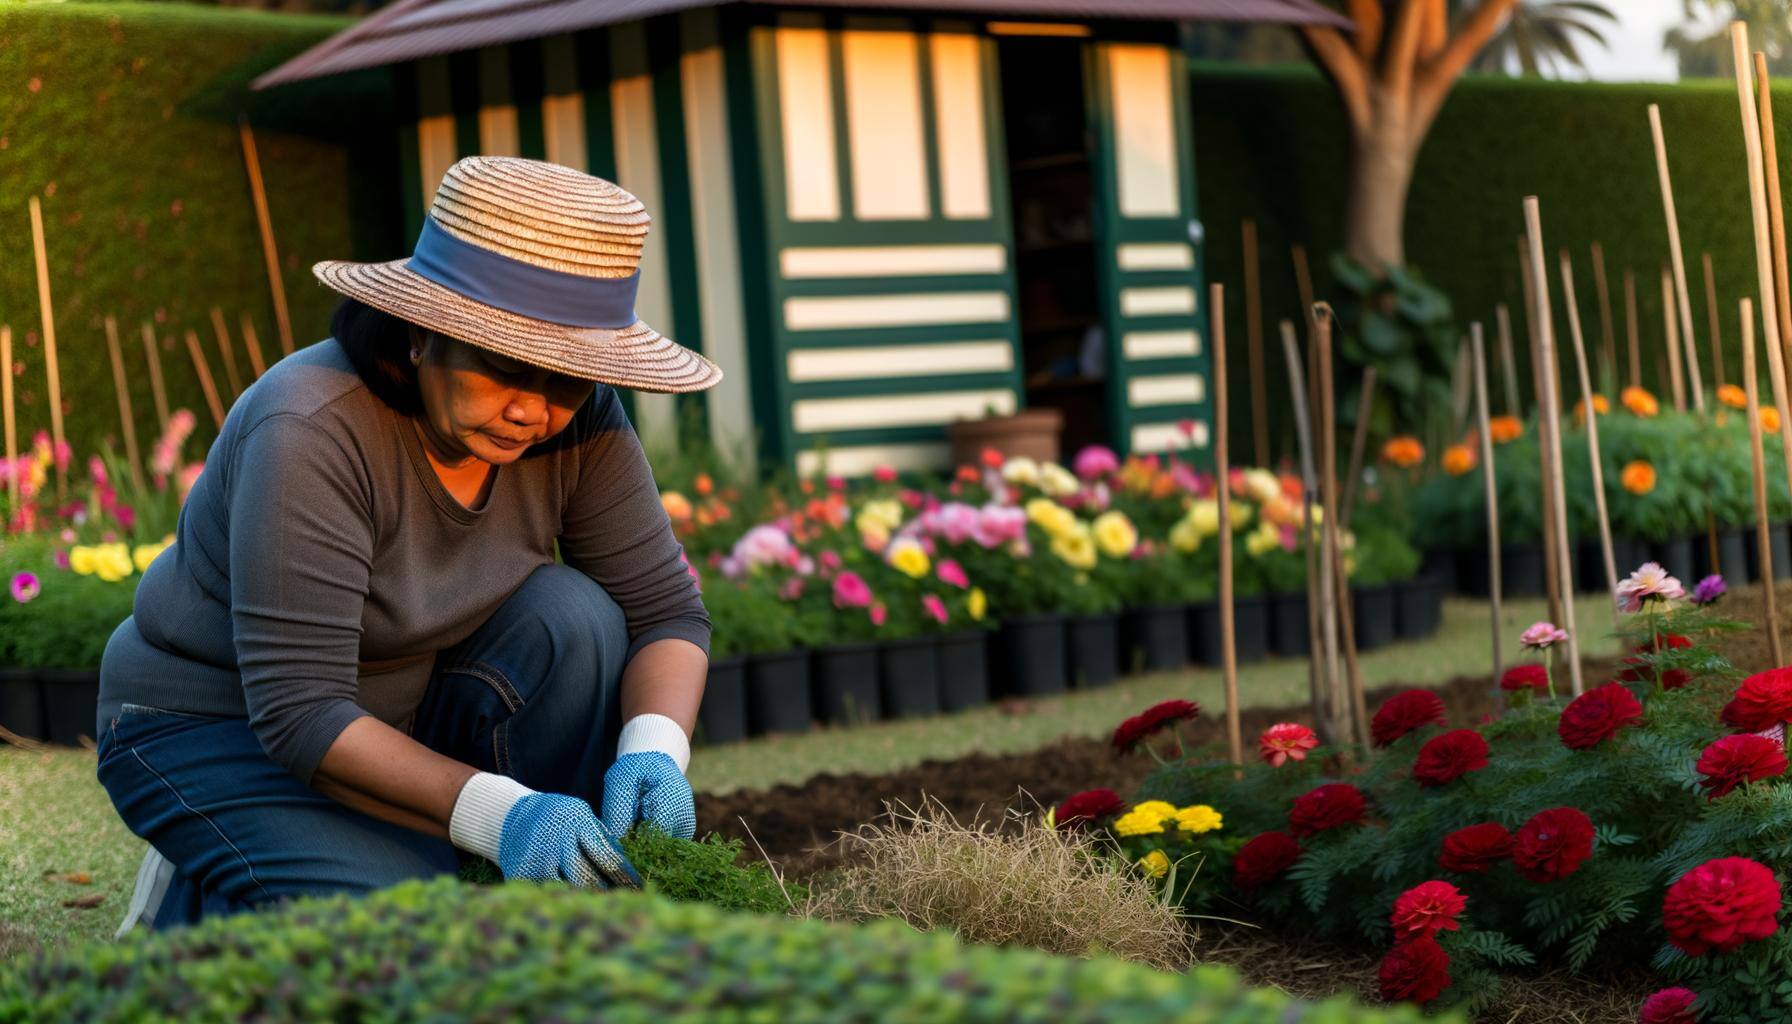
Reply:
<svg viewBox="0 0 1792 1024"><path fill-rule="evenodd" d="M1518 631L1541 617L1541 601L1507 604L1511 655L1518 653ZM1586 656L1615 653L1615 644L1604 638L1611 622L1604 597L1579 601L1577 620ZM1448 601L1444 626L1435 637L1364 655L1362 671L1367 687L1444 683L1486 673L1487 604ZM1305 703L1305 662L1245 665L1238 689L1249 707ZM973 751L1018 753L1064 735L1102 735L1118 719L1167 698L1195 699L1219 712L1220 676L1217 671L1161 673L1100 690L1027 701L1018 714L989 707L697 748L690 780L699 793L726 793L803 782L821 771L882 773ZM0 744L0 823L5 823L0 829L0 959L36 943L111 936L131 900L143 843L118 821L95 780L93 751L27 751ZM91 884L63 881L73 872L90 873ZM63 906L93 895L102 897L95 907Z"/></svg>

